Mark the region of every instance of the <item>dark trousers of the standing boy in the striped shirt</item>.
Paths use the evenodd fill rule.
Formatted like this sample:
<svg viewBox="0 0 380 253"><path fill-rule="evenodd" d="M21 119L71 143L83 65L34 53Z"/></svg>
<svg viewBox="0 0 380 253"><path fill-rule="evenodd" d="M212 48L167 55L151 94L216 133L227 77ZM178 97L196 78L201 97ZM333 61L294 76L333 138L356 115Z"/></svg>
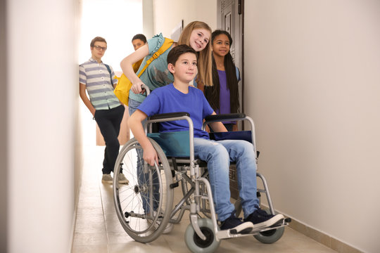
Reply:
<svg viewBox="0 0 380 253"><path fill-rule="evenodd" d="M103 174L110 174L115 167L116 158L119 155L120 143L118 140L120 123L124 115L124 105L109 110L96 110L95 120L106 142L103 160ZM120 173L122 170L120 169Z"/></svg>

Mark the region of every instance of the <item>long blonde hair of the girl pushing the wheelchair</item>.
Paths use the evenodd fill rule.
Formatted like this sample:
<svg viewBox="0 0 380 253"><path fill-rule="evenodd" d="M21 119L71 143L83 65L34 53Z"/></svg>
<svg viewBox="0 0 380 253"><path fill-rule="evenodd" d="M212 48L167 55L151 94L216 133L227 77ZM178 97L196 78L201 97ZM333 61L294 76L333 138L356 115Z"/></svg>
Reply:
<svg viewBox="0 0 380 253"><path fill-rule="evenodd" d="M208 30L210 34L213 32L205 22L193 21L184 27L181 36L179 36L178 44L186 44L187 46L190 46L191 32L195 29L205 29ZM212 52L210 44L211 39L208 41L205 48L199 52L198 56L198 78L196 82L201 82L204 86L213 86L213 60L211 58Z"/></svg>

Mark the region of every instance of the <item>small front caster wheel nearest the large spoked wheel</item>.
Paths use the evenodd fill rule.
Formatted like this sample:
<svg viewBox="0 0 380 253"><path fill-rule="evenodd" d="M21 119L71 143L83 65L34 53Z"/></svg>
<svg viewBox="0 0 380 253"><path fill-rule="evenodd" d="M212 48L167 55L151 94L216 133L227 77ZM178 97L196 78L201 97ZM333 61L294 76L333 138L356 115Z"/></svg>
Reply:
<svg viewBox="0 0 380 253"><path fill-rule="evenodd" d="M186 246L191 250L191 252L203 252L211 253L215 252L217 247L220 245L220 241L216 240L216 235L214 233L213 221L210 219L198 219L199 228L201 228L202 233L206 236L206 240L202 240L195 233L193 226L191 224L187 226L185 232L185 242Z"/></svg>

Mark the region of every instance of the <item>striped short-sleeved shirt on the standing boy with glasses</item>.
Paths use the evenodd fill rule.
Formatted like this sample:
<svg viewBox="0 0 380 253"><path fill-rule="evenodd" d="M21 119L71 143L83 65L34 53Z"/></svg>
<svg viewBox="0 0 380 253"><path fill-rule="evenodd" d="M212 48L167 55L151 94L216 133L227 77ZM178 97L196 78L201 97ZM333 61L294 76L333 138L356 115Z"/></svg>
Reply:
<svg viewBox="0 0 380 253"><path fill-rule="evenodd" d="M112 67L110 67L112 77L115 77ZM117 84L117 79L112 79L113 84ZM104 63L98 63L90 58L80 65L80 83L86 84L91 104L95 110L108 110L120 105L120 101L113 93L110 72Z"/></svg>

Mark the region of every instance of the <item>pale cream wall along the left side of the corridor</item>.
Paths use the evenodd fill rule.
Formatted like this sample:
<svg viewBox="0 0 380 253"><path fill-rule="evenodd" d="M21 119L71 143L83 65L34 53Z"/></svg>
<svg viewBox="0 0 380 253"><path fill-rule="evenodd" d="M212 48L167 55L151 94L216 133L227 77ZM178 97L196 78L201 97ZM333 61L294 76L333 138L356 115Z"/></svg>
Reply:
<svg viewBox="0 0 380 253"><path fill-rule="evenodd" d="M7 1L8 252L70 252L79 1ZM4 48L3 48L4 49Z"/></svg>

